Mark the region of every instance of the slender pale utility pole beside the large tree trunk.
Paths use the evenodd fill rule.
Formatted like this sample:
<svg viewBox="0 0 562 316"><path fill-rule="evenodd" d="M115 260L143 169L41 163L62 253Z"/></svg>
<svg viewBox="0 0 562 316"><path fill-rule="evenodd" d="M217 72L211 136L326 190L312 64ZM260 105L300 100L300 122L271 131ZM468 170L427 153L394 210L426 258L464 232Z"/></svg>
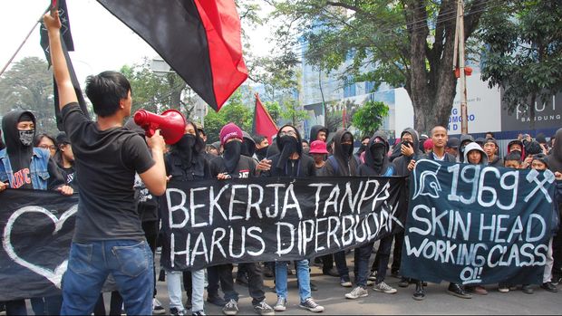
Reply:
<svg viewBox="0 0 562 316"><path fill-rule="evenodd" d="M453 71L457 70L459 62L459 84L460 84L460 132L469 133L469 115L467 110L467 77L465 69L464 49L464 1L457 0L457 29L455 31L455 53L453 57Z"/></svg>

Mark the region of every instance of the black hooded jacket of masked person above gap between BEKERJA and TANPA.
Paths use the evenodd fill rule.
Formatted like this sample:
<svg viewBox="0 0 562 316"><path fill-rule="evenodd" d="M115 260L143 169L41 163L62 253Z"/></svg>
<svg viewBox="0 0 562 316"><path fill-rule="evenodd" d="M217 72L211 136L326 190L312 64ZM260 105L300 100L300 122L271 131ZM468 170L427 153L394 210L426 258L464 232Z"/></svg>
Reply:
<svg viewBox="0 0 562 316"><path fill-rule="evenodd" d="M271 169L266 172L262 172L262 177L314 177L316 175L315 160L310 158L310 156L303 154L303 143L298 129L295 129L297 140L296 152L298 153L298 159L287 159L282 168L277 168L279 160L282 159L281 155L283 154L284 149L284 144L280 141L277 142L277 140L281 139L281 129L284 129L286 126L290 126L295 129L294 126L286 124L277 131L276 147L279 152L269 158L271 159Z"/></svg>

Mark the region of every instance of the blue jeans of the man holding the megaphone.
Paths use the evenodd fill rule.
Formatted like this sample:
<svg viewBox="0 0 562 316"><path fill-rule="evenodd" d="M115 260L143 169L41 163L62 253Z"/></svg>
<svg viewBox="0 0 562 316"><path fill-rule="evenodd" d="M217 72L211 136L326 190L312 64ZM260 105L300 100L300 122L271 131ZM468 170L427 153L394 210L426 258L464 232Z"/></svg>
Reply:
<svg viewBox="0 0 562 316"><path fill-rule="evenodd" d="M62 315L90 315L111 273L129 315L151 315L153 260L146 241L73 243L63 276Z"/></svg>

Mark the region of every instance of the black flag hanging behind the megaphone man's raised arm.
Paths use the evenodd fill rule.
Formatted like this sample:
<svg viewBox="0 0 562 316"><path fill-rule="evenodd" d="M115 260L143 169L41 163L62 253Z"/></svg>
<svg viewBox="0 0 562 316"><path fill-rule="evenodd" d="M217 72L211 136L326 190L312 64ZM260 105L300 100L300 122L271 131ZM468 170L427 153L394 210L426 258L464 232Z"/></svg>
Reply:
<svg viewBox="0 0 562 316"><path fill-rule="evenodd" d="M61 19L61 43L63 44L64 58L66 59L66 65L68 66L68 72L70 72L71 80L73 81L74 91L76 92L76 98L78 98L78 104L80 109L90 119L90 114L88 113L88 107L86 106L86 101L82 95L82 90L80 89L80 82L76 78L76 73L74 72L73 62L68 54L69 51L74 51L73 34L70 30L70 21L68 19L68 10L66 9L66 0L53 0L51 8L59 10L59 18ZM43 47L45 58L51 66L51 52L49 48L49 34L47 34L47 29L44 24L41 24L40 30L41 36L41 47ZM61 116L61 110L59 108L59 90L56 81L53 77L53 94L54 94L54 114L56 117L56 126L59 130L63 131L63 117Z"/></svg>

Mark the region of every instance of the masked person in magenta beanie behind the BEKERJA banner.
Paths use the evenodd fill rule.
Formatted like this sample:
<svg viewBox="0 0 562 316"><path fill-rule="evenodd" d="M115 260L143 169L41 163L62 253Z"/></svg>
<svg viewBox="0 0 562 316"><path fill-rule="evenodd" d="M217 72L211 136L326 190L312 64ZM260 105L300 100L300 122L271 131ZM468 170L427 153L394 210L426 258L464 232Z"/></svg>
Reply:
<svg viewBox="0 0 562 316"><path fill-rule="evenodd" d="M219 139L224 152L222 156L211 160L211 176L219 180L256 177L258 172L256 159L241 155L244 139L242 129L230 122L220 129ZM271 306L266 303L260 265L258 263L238 263L238 268L240 267L247 272L248 291L252 297L254 311L260 315L275 314ZM221 264L217 266L217 269L221 279L222 291L225 293L225 301L227 301L222 311L226 315L236 315L238 312L238 293L234 290L232 264Z"/></svg>

